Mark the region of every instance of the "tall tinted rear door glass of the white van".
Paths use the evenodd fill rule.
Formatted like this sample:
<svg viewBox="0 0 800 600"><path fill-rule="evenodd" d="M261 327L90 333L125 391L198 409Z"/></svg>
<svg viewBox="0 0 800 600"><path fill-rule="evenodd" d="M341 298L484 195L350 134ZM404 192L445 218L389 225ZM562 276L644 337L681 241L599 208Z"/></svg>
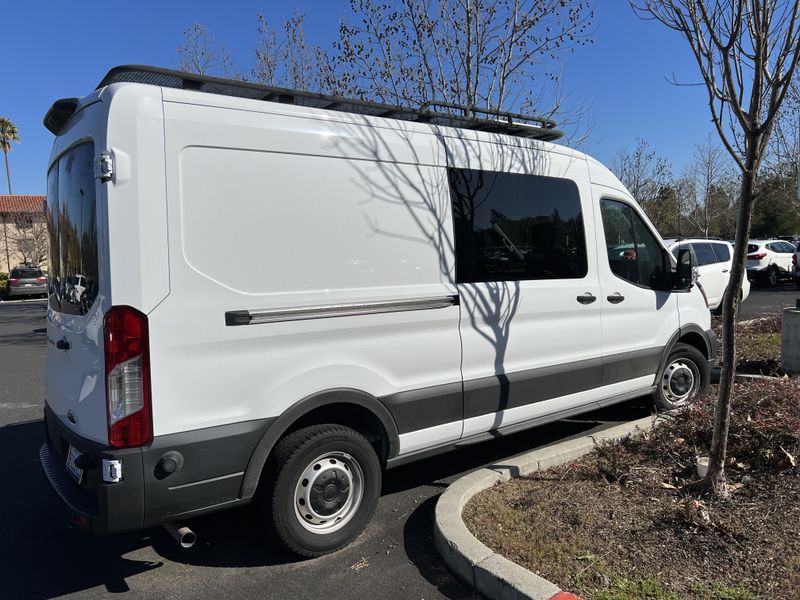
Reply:
<svg viewBox="0 0 800 600"><path fill-rule="evenodd" d="M66 152L47 174L50 307L85 315L97 296L97 203L94 144Z"/></svg>

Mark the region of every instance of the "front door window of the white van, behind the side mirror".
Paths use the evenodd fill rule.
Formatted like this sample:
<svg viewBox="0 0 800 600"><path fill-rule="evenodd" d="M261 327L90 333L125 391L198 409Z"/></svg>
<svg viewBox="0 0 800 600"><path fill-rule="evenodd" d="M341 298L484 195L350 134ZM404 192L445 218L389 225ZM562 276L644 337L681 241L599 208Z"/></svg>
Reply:
<svg viewBox="0 0 800 600"><path fill-rule="evenodd" d="M624 202L602 200L600 207L611 271L638 286L661 289L663 252L647 225Z"/></svg>

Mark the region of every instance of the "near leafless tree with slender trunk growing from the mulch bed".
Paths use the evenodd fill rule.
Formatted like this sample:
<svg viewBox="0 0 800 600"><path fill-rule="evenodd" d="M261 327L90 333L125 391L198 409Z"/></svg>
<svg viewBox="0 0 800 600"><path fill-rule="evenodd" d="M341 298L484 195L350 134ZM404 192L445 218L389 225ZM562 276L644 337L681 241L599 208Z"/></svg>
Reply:
<svg viewBox="0 0 800 600"><path fill-rule="evenodd" d="M725 458L736 368L737 300L759 168L800 60L800 3L787 0L630 0L677 31L694 55L722 144L741 171L731 286L722 302L722 374L708 475L699 488L727 495Z"/></svg>

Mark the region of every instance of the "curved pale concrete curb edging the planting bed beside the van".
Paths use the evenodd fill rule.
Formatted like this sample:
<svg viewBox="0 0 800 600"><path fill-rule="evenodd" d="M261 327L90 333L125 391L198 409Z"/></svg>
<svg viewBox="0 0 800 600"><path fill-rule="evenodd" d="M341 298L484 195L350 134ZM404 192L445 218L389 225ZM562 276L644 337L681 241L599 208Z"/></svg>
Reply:
<svg viewBox="0 0 800 600"><path fill-rule="evenodd" d="M450 484L436 503L433 530L436 548L444 562L464 581L493 600L580 600L484 546L469 532L461 513L473 496L500 481L575 460L591 452L598 442L644 432L652 425L653 417L617 425L478 469Z"/></svg>

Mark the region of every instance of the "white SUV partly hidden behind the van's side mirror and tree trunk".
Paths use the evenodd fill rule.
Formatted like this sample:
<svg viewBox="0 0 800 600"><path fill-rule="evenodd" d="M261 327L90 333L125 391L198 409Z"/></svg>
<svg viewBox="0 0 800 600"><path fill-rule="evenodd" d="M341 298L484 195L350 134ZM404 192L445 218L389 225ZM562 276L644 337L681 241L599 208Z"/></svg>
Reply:
<svg viewBox="0 0 800 600"><path fill-rule="evenodd" d="M697 265L697 283L705 294L708 308L718 312L730 284L733 246L723 240L705 238L665 240L665 243L675 256L680 248L692 249ZM744 277L739 301L744 302L749 295L750 281Z"/></svg>

